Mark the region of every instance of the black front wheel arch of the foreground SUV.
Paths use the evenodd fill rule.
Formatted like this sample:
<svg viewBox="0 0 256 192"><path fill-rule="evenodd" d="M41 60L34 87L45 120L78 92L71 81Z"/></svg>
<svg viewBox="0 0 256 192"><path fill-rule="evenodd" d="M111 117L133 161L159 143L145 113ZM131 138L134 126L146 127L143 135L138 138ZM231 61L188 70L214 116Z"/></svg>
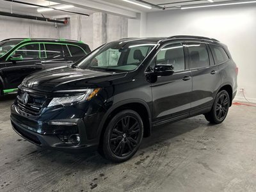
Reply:
<svg viewBox="0 0 256 192"><path fill-rule="evenodd" d="M142 118L144 125L144 134L143 137L148 137L151 134L151 113L150 108L147 103L140 99L129 99L124 100L122 102L118 102L115 105L111 106L108 109L107 113L103 116L102 121L100 122L98 135L100 136L99 140L102 141L102 137L104 135L104 130L108 125L108 122L111 120L111 117L116 115L119 111L124 109L131 109L136 111Z"/></svg>

